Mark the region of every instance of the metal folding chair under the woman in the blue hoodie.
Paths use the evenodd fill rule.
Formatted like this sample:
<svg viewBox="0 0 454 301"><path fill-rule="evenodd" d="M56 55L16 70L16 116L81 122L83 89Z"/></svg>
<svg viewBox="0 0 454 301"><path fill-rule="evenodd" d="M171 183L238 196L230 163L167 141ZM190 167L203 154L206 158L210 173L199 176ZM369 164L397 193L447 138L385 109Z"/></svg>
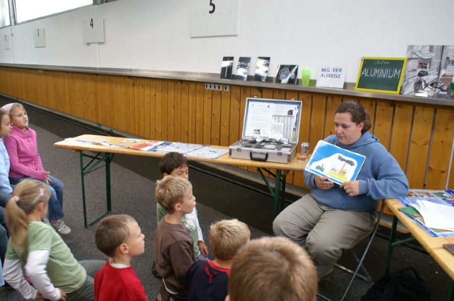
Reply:
<svg viewBox="0 0 454 301"><path fill-rule="evenodd" d="M383 203L381 205L380 212L378 213L377 220L375 221L374 228L372 229L371 234L367 238L368 239L367 245L366 245L366 248L363 251L363 255L361 256L361 258L358 258L358 256L356 255L355 251L353 251L353 249L350 250L350 252L352 253L352 255L355 258L356 262L358 263L358 265L356 266L355 271L352 271L352 270L350 270L350 269L348 269L348 268L346 268L344 266L341 266L341 265L339 265L337 263L334 265L335 267L352 274L352 278L350 279L349 285L347 286L347 288L346 288L346 290L344 292L344 295L341 298L341 301L344 300L345 296L347 295L347 292L350 290L350 287L352 286L353 280L355 280L356 277L361 278L364 281L368 281L368 282L372 281L372 277L369 275L369 273L367 272L366 268L363 266L363 261L364 261L364 258L366 257L367 252L369 251L369 247L372 244L372 240L374 239L375 234L377 233L378 226L380 225L380 219L381 219L381 216L383 215L384 207L385 207L385 205ZM366 276L363 276L363 275L359 274L359 270L360 269L364 272L364 274ZM317 296L319 296L322 299L331 301L331 299L325 297L321 293L317 293Z"/></svg>

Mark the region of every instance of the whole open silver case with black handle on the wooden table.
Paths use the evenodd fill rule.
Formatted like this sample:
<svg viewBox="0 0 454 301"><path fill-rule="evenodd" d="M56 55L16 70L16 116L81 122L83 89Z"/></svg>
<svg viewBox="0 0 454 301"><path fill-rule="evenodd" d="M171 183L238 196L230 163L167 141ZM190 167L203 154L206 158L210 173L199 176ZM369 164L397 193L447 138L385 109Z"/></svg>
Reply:
<svg viewBox="0 0 454 301"><path fill-rule="evenodd" d="M233 158L290 163L296 155L301 101L247 98L243 137L230 146Z"/></svg>

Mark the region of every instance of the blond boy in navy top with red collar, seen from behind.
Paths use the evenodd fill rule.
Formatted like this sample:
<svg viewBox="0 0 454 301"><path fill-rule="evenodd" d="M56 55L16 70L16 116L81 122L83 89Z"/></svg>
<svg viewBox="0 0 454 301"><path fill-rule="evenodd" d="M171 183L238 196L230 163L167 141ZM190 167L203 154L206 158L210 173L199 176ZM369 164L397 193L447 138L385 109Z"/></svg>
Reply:
<svg viewBox="0 0 454 301"><path fill-rule="evenodd" d="M251 232L238 219L221 220L210 227L210 245L216 259L198 260L183 281L190 300L224 301L230 268L238 249L249 242Z"/></svg>

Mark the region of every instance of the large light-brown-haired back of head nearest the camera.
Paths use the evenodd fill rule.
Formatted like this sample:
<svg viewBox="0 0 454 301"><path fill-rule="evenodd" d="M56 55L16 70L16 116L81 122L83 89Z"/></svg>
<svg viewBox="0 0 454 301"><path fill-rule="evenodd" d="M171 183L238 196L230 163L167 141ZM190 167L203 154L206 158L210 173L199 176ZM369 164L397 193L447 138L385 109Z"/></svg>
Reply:
<svg viewBox="0 0 454 301"><path fill-rule="evenodd" d="M285 237L262 237L236 254L229 300L313 301L317 282L315 266L303 248Z"/></svg>

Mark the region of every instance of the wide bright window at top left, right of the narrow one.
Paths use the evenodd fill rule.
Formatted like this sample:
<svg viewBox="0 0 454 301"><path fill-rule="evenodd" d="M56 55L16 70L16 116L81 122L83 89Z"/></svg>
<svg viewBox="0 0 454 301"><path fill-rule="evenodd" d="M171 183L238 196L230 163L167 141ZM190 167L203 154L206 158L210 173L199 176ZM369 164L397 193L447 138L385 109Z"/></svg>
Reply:
<svg viewBox="0 0 454 301"><path fill-rule="evenodd" d="M92 4L93 0L16 0L16 20L21 23Z"/></svg>

